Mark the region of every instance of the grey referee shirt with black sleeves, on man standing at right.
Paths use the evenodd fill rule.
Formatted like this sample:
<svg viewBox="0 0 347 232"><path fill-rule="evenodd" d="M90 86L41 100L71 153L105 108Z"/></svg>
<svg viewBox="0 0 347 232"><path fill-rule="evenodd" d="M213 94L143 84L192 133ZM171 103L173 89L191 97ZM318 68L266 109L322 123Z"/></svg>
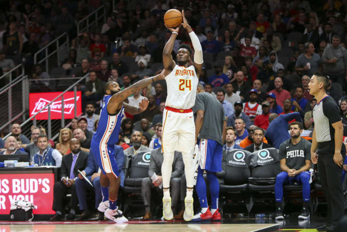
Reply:
<svg viewBox="0 0 347 232"><path fill-rule="evenodd" d="M324 97L313 108L314 130L318 143L335 141L333 123L341 121L339 106L331 96Z"/></svg>

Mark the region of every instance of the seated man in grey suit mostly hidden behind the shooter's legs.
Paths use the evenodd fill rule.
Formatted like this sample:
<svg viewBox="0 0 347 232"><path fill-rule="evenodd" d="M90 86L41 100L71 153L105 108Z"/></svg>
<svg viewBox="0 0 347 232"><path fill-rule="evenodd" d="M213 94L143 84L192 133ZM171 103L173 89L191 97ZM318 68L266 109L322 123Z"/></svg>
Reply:
<svg viewBox="0 0 347 232"><path fill-rule="evenodd" d="M151 213L151 189L156 188L158 192L162 192L160 189L160 185L163 183L163 177L162 177L162 164L164 160L164 155L162 153L161 148L157 148L152 150L151 152L151 160L149 164L149 170L148 170L148 176L144 179L142 179L142 197L143 202L146 207L146 213L143 216L143 220L150 220L152 219L152 213ZM172 209L174 212L175 207L177 206L178 200L179 200L179 189L180 189L180 180L181 175L183 173L183 158L182 153L174 152L173 156L173 172L171 173L171 180L170 180L170 190L171 190L171 196L172 196ZM152 180L151 177L156 174L157 178L155 180Z"/></svg>

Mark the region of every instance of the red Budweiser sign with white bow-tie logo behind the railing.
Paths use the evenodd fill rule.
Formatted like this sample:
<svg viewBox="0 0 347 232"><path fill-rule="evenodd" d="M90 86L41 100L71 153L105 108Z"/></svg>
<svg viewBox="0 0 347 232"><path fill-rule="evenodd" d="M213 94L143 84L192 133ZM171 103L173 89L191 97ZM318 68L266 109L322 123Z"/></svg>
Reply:
<svg viewBox="0 0 347 232"><path fill-rule="evenodd" d="M30 93L29 94L29 110L30 116L33 116L44 108L48 103L55 99L62 92L45 92L45 93ZM76 94L76 113L80 115L81 111L81 92L77 91ZM75 116L75 101L74 93L66 92L64 93L64 119L71 119ZM37 120L48 119L48 107L42 110L37 116ZM61 119L61 97L51 104L51 119Z"/></svg>

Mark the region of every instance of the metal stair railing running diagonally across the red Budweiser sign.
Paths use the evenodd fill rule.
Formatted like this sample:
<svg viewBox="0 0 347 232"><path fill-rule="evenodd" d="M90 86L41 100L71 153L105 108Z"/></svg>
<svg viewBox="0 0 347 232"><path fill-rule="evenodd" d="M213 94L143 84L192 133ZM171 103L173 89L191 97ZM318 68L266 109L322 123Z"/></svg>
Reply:
<svg viewBox="0 0 347 232"><path fill-rule="evenodd" d="M77 117L77 111L76 111L76 104L77 104L77 84L80 83L82 80L85 80L87 77L89 77L89 74L87 74L86 76L80 78L78 81L76 81L74 84L72 84L70 87L68 87L65 91L63 91L62 93L60 93L57 97L55 97L52 101L50 101L49 103L47 103L45 106L43 106L39 111L37 111L34 115L32 115L31 117L29 117L26 121L24 121L22 124L20 124L20 127L24 127L26 126L27 123L29 123L32 119L33 119L33 125L36 126L37 125L37 120L36 120L36 116L41 113L41 111L46 110L48 111L48 126L47 126L47 136L49 139L52 139L52 119L51 119L51 105L58 99L61 98L61 128L65 127L65 119L64 119L64 93L66 93L67 91L69 91L70 89L73 88L73 92L74 92L74 117ZM11 133L8 133L5 137L3 137L3 139L6 139L8 136L10 136Z"/></svg>

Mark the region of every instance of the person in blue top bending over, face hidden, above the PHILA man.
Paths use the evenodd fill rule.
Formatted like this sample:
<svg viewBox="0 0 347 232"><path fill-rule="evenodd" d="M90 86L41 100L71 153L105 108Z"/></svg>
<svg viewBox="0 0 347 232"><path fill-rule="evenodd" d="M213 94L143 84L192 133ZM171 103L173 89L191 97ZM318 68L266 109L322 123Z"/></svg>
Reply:
<svg viewBox="0 0 347 232"><path fill-rule="evenodd" d="M294 112L290 114L277 115L272 113L269 116L269 127L266 130L265 137L274 148L279 149L280 145L290 138L288 133L288 122L295 119L301 122L300 113Z"/></svg>

